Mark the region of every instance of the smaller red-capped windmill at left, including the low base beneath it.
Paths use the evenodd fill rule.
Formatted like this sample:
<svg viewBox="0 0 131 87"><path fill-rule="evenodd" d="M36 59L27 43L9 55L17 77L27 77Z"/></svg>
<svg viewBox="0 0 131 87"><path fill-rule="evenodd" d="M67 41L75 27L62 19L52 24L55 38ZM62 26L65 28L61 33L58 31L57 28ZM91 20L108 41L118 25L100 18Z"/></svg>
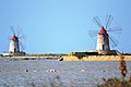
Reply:
<svg viewBox="0 0 131 87"><path fill-rule="evenodd" d="M12 37L10 38L10 45L9 45L9 52L2 53L4 57L11 57L11 55L24 55L25 52L23 50L24 47L24 40L25 35L22 35L22 28L17 26L17 32L14 32L13 26L10 26L12 32Z"/></svg>

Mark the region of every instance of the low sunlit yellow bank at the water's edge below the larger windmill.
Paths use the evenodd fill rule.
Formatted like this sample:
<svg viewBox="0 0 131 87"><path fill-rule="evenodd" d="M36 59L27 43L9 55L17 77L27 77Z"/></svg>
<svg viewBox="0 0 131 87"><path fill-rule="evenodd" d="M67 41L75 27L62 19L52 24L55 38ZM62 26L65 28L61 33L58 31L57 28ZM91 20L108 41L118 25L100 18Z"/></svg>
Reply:
<svg viewBox="0 0 131 87"><path fill-rule="evenodd" d="M131 61L131 55L122 55L124 61ZM120 55L87 55L79 59L74 55L62 55L63 61L119 61Z"/></svg>

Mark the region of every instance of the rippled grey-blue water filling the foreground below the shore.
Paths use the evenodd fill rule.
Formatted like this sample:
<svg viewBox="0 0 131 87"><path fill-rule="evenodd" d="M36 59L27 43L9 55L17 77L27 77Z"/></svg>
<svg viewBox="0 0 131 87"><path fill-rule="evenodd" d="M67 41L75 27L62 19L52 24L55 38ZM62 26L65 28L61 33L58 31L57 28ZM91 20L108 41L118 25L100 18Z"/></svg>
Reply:
<svg viewBox="0 0 131 87"><path fill-rule="evenodd" d="M127 65L130 73L131 62L127 62ZM120 78L118 66L119 62L2 59L0 87L97 87L104 83L103 78Z"/></svg>

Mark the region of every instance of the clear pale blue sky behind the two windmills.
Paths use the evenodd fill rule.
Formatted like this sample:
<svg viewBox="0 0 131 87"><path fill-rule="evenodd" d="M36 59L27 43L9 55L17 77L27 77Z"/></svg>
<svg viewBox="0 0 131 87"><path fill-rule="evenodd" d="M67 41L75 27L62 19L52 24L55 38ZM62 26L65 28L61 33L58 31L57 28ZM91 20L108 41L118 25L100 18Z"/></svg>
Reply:
<svg viewBox="0 0 131 87"><path fill-rule="evenodd" d="M122 32L112 36L119 41L111 49L131 53L131 0L0 0L0 53L9 51L10 26L17 33L27 53L68 53L96 49L96 37L88 30L99 30L93 22L107 14L114 17L110 27Z"/></svg>

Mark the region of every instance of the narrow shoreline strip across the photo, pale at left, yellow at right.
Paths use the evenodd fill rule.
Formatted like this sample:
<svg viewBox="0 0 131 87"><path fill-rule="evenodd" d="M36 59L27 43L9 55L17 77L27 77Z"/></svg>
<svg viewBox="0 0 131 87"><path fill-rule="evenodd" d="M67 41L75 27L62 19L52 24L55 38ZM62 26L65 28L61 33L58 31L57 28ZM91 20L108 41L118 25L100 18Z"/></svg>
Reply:
<svg viewBox="0 0 131 87"><path fill-rule="evenodd" d="M131 61L131 55L122 55L124 61ZM10 60L58 60L58 61L120 61L120 55L86 55L79 59L75 55L19 55L0 57L0 59ZM62 60L61 60L62 59Z"/></svg>

